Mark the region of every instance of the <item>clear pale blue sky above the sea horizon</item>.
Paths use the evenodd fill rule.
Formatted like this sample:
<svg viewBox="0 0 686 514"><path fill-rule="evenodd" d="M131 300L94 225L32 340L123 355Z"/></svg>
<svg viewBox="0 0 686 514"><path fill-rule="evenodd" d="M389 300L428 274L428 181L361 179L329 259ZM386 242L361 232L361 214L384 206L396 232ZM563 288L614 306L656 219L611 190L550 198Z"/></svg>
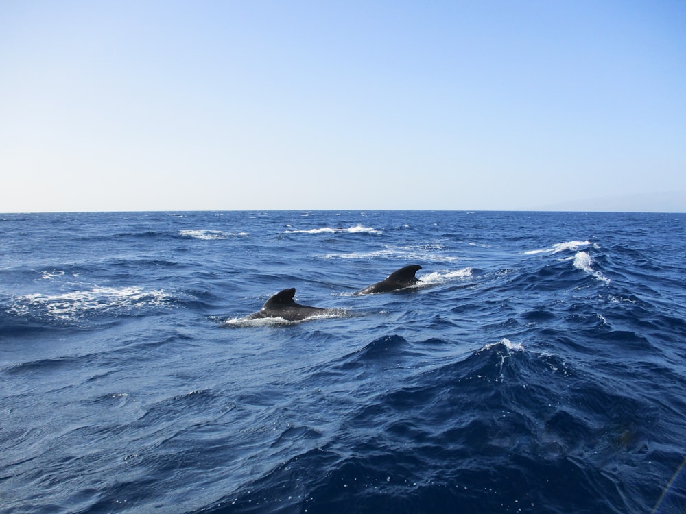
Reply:
<svg viewBox="0 0 686 514"><path fill-rule="evenodd" d="M686 1L0 0L0 212L686 212Z"/></svg>

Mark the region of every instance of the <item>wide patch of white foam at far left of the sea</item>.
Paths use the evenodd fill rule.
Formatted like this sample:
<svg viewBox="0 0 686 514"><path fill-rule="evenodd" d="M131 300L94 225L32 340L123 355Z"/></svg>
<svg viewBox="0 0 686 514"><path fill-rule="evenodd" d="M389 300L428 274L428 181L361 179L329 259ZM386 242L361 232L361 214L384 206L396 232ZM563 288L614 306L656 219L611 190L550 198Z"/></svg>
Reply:
<svg viewBox="0 0 686 514"><path fill-rule="evenodd" d="M16 297L10 312L15 315L36 313L56 319L79 319L93 313L106 313L120 308L168 306L171 295L161 289L142 287L95 287L88 291L71 291L59 295L34 293Z"/></svg>

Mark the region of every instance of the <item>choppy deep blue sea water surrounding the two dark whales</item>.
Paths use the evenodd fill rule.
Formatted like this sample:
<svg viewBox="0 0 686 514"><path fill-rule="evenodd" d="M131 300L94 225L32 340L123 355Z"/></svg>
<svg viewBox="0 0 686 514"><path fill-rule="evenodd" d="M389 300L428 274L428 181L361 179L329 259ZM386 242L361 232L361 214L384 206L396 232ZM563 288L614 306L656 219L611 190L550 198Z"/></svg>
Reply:
<svg viewBox="0 0 686 514"><path fill-rule="evenodd" d="M0 220L3 513L686 512L686 215Z"/></svg>

